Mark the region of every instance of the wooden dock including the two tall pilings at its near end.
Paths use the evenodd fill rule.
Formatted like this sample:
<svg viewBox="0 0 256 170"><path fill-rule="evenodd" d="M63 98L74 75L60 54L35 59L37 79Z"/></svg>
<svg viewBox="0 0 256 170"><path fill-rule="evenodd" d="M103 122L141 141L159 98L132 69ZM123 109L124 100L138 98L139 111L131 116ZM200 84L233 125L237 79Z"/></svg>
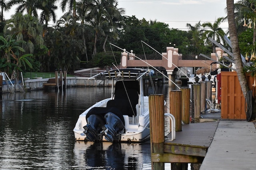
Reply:
<svg viewBox="0 0 256 170"><path fill-rule="evenodd" d="M161 120L164 115L162 107L160 107L163 96L149 96L151 161L154 170L164 170L164 162L172 163L174 170L180 170L183 165L186 166L188 163L202 164L221 119L220 111L216 113L199 112L197 116L194 115L192 123L182 125L184 120L182 121L183 111L181 108L185 107L185 102L182 100L181 94L181 90L170 91L170 113L175 117L176 137L174 141L170 140L172 139L171 133L167 137L163 137L164 121ZM189 115L189 112L184 113L184 115L186 114Z"/></svg>

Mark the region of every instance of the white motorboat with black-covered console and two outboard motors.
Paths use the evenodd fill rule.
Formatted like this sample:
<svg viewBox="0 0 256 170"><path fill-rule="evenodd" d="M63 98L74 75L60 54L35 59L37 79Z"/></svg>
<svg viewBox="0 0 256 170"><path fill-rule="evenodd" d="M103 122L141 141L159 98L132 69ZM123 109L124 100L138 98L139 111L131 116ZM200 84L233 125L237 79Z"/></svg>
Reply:
<svg viewBox="0 0 256 170"><path fill-rule="evenodd" d="M100 73L112 79L112 95L79 116L73 130L75 139L128 143L150 139L148 96L143 91L143 77L149 74L152 70L139 68Z"/></svg>

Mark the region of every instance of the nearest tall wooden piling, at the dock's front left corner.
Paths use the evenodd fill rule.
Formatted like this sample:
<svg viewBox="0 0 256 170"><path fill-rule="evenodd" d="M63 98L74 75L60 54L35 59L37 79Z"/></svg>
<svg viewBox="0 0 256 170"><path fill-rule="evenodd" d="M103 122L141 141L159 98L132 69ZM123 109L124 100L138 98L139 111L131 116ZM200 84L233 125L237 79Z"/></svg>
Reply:
<svg viewBox="0 0 256 170"><path fill-rule="evenodd" d="M164 95L149 96L151 156L164 153ZM164 162L152 162L152 170L164 170Z"/></svg>

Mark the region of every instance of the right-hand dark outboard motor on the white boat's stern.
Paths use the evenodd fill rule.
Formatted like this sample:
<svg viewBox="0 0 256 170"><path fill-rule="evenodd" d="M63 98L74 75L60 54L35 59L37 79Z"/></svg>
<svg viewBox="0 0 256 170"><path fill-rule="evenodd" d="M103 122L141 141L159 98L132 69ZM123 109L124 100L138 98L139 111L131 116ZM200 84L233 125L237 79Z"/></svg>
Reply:
<svg viewBox="0 0 256 170"><path fill-rule="evenodd" d="M106 125L102 127L104 130L105 139L109 142L119 141L119 133L124 129L122 120L114 113L108 112L104 115Z"/></svg>

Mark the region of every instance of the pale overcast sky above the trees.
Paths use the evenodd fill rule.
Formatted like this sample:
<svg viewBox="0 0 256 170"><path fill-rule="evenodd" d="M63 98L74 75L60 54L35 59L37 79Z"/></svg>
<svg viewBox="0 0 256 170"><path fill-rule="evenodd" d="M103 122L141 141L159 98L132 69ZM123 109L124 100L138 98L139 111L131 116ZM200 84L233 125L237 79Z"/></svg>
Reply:
<svg viewBox="0 0 256 170"><path fill-rule="evenodd" d="M60 1L60 0L59 0ZM237 0L234 0L236 2ZM58 5L59 6L59 5ZM226 0L118 0L118 8L124 8L126 16L136 16L139 20L164 22L169 28L187 31L187 23L196 25L212 22L217 18L226 17ZM15 13L12 8L5 19ZM57 19L62 16L62 11L56 12ZM54 24L50 22L50 24ZM223 22L220 27L228 29L228 22Z"/></svg>

